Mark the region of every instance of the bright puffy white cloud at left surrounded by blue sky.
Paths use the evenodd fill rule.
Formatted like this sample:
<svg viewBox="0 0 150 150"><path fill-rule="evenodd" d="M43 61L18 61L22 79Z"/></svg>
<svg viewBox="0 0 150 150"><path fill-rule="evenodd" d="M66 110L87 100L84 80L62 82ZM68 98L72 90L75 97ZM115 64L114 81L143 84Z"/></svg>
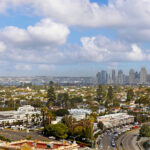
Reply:
<svg viewBox="0 0 150 150"><path fill-rule="evenodd" d="M64 24L55 23L51 19L43 19L35 26L21 29L8 26L0 30L0 40L8 46L49 48L59 46L66 42L70 31Z"/></svg>

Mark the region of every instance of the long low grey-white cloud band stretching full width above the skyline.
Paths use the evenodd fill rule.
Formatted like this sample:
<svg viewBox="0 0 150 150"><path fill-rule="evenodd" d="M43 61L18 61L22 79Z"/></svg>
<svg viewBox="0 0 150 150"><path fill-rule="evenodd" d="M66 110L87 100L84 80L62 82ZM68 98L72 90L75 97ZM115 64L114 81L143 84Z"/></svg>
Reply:
<svg viewBox="0 0 150 150"><path fill-rule="evenodd" d="M72 64L81 62L119 63L126 61L149 61L150 51L142 50L136 44L112 40L105 36L82 37L80 45L69 45L64 50L54 51L17 49L2 53L0 59L18 63L38 64L40 70L53 69L52 64ZM19 67L18 67L19 68ZM20 67L21 68L21 67Z"/></svg>

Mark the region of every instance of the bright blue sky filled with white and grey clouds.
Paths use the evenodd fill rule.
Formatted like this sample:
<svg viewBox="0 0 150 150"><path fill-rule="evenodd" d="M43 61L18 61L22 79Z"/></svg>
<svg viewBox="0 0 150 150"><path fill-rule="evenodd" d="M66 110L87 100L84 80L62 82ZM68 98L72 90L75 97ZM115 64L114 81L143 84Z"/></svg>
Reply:
<svg viewBox="0 0 150 150"><path fill-rule="evenodd" d="M0 76L150 72L149 0L1 0Z"/></svg>

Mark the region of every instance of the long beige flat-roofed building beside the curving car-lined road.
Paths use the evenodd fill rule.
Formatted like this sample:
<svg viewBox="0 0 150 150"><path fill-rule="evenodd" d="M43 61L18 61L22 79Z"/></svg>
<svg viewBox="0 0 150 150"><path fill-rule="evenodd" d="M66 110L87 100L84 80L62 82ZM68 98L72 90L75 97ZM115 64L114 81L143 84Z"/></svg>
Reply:
<svg viewBox="0 0 150 150"><path fill-rule="evenodd" d="M128 115L127 113L109 114L98 117L97 121L102 122L107 129L134 123L134 116Z"/></svg>

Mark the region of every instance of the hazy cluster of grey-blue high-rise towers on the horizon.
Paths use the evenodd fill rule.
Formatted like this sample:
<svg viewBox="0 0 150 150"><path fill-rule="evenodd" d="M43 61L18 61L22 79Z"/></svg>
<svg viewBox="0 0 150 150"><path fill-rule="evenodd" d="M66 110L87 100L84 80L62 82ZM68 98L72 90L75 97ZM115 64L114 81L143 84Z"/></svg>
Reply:
<svg viewBox="0 0 150 150"><path fill-rule="evenodd" d="M138 72L130 69L128 74L123 70L112 69L111 72L101 70L96 74L97 84L146 85L150 84L150 74L145 67Z"/></svg>

